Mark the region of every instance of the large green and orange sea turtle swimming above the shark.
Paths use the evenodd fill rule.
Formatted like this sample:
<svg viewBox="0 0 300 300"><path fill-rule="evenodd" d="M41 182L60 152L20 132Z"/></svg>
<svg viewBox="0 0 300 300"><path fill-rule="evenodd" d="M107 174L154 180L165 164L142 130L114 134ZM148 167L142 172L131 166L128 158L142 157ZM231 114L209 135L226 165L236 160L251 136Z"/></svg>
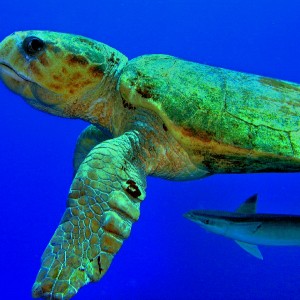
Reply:
<svg viewBox="0 0 300 300"><path fill-rule="evenodd" d="M5 38L0 70L33 107L91 123L34 297L69 299L106 273L139 218L147 175L300 170L298 84L168 55L128 61L100 42L48 31Z"/></svg>

